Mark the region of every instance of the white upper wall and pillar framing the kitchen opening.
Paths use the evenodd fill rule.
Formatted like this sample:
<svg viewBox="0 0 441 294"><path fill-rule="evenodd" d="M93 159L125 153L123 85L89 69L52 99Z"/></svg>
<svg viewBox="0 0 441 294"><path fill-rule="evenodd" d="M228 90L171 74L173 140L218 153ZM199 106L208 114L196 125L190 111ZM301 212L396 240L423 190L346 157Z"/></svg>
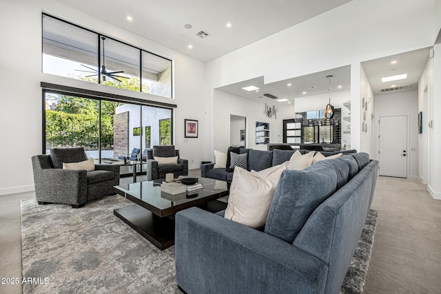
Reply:
<svg viewBox="0 0 441 294"><path fill-rule="evenodd" d="M205 109L214 116L213 89L265 76L265 83L351 65L351 147L360 150L360 63L433 45L432 0L353 0L207 63ZM400 13L391 11L400 8ZM409 21L411 19L411 21ZM439 29L439 26L438 26ZM410 37L418 36L418 38ZM216 112L218 109L216 109ZM216 145L218 130L212 126ZM371 141L371 140L369 140ZM369 144L371 145L371 144ZM212 148L207 148L212 149Z"/></svg>

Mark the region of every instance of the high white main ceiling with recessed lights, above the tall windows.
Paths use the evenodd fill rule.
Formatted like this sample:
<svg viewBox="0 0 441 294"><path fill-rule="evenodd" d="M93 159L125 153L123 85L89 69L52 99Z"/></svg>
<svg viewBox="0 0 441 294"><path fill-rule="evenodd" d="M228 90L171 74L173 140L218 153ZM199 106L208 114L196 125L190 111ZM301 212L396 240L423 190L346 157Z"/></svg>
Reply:
<svg viewBox="0 0 441 294"><path fill-rule="evenodd" d="M351 0L59 1L178 52L210 61ZM201 31L209 36L196 36Z"/></svg>

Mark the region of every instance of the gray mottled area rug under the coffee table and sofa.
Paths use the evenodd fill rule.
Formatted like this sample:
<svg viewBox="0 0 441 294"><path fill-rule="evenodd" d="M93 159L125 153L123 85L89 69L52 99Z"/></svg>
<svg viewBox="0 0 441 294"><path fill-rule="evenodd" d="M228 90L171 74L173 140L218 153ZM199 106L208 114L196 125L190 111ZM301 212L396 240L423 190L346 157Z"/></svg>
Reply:
<svg viewBox="0 0 441 294"><path fill-rule="evenodd" d="M160 251L113 210L121 196L69 205L21 202L23 293L181 293L174 281L174 246ZM377 211L370 211L342 293L362 293ZM37 282L37 283L35 283Z"/></svg>

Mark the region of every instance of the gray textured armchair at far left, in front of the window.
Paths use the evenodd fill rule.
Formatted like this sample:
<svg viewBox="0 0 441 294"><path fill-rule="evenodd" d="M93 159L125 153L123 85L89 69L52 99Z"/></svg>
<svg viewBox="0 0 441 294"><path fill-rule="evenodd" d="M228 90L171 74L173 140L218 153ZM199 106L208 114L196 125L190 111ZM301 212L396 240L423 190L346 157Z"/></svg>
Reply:
<svg viewBox="0 0 441 294"><path fill-rule="evenodd" d="M32 156L35 198L39 204L62 203L74 208L114 194L119 165L95 165L94 171L63 169L63 162L87 160L83 147L50 149L51 155Z"/></svg>

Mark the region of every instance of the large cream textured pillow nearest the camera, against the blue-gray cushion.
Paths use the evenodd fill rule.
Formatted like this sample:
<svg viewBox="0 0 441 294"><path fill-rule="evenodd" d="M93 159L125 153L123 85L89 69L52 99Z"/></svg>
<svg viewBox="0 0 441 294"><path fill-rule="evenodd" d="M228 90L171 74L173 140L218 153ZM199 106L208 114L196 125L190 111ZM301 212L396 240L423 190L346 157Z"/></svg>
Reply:
<svg viewBox="0 0 441 294"><path fill-rule="evenodd" d="M265 226L277 183L289 162L262 171L234 168L225 218L254 229Z"/></svg>

